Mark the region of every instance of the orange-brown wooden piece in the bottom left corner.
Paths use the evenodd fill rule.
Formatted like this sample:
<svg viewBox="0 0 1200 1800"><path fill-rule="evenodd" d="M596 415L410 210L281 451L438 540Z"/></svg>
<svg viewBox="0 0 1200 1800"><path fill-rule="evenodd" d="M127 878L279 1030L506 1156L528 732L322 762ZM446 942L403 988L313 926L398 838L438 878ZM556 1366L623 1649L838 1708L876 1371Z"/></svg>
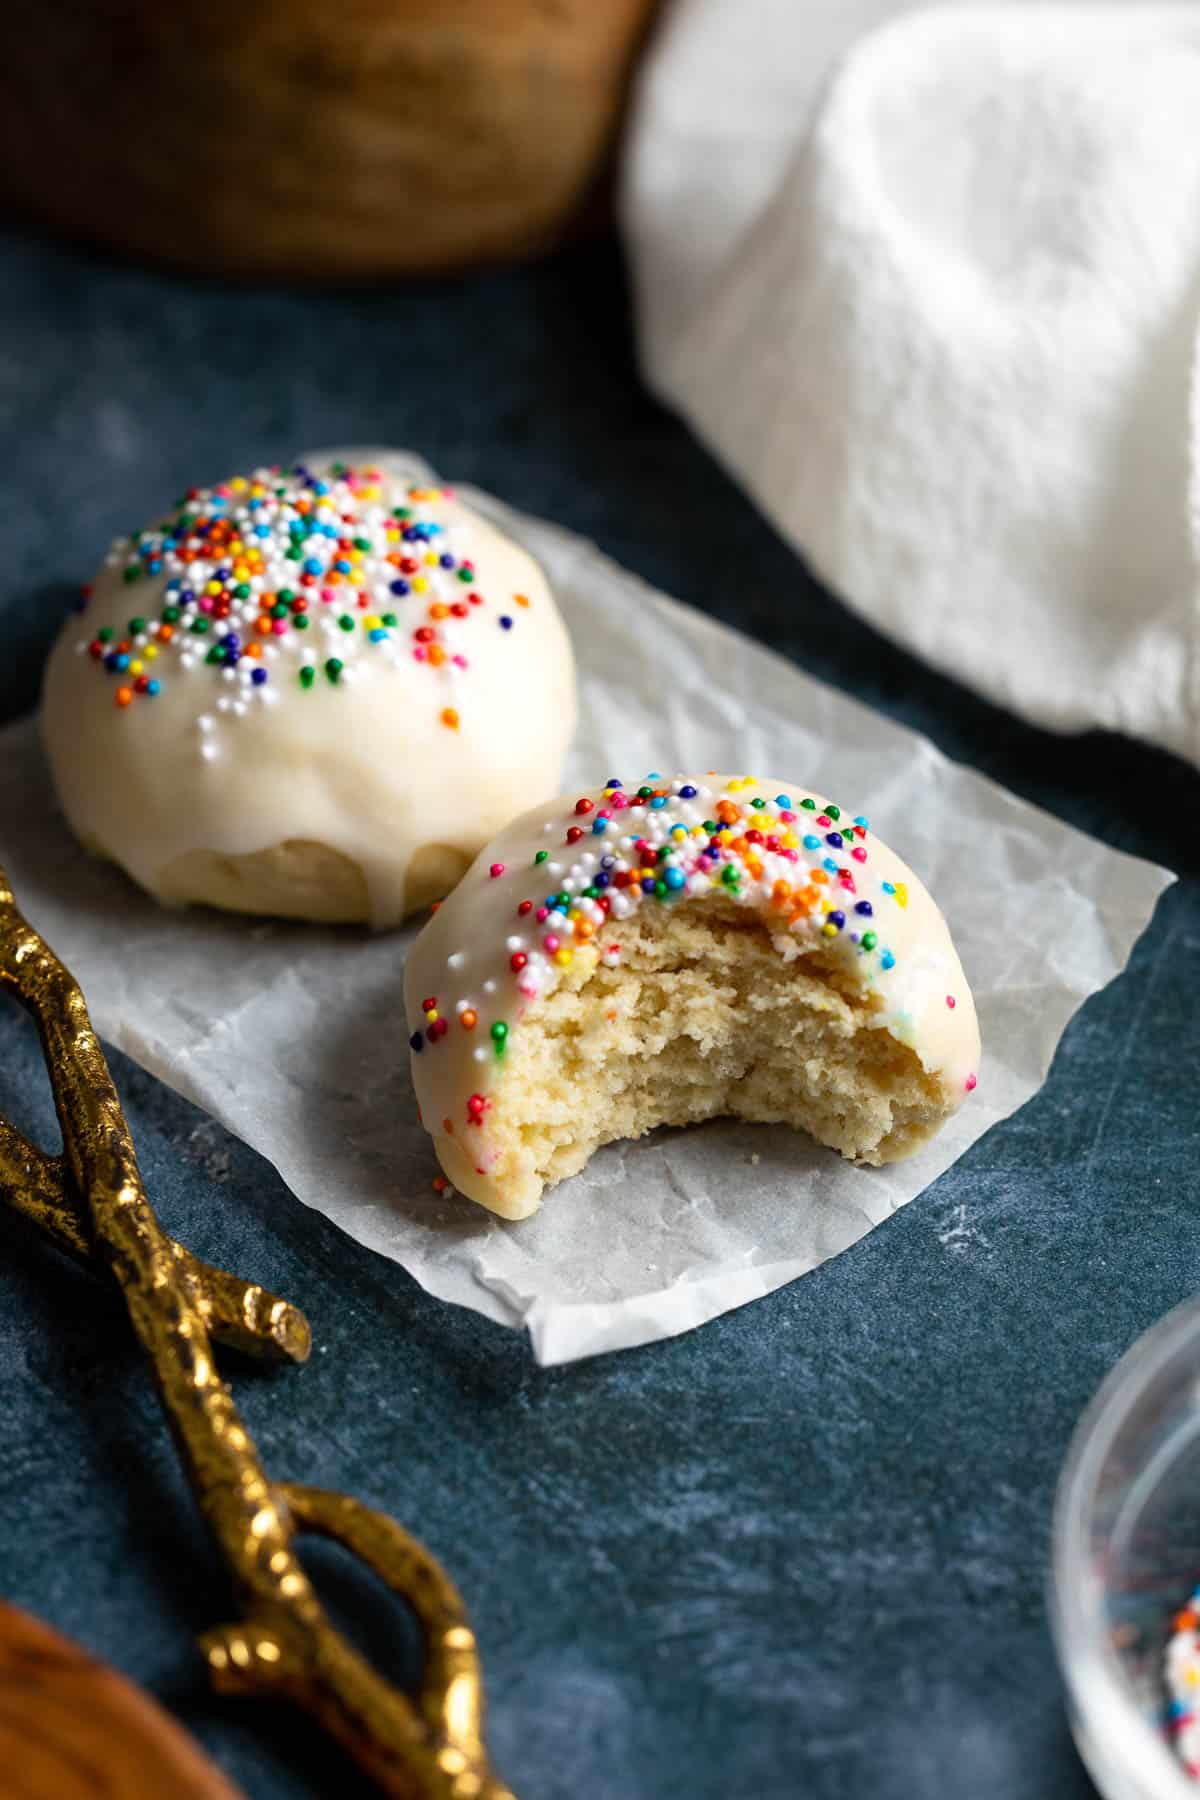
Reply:
<svg viewBox="0 0 1200 1800"><path fill-rule="evenodd" d="M5 1800L243 1800L149 1696L2 1602L0 1771Z"/></svg>

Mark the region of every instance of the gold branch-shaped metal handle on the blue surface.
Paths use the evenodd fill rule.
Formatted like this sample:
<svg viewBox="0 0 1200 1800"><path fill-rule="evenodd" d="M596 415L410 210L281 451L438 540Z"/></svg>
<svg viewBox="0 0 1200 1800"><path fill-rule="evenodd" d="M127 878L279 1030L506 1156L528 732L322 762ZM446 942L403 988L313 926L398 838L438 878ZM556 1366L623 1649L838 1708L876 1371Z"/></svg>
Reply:
<svg viewBox="0 0 1200 1800"><path fill-rule="evenodd" d="M434 1557L344 1494L268 1481L216 1372L210 1337L302 1361L304 1316L198 1262L162 1231L83 994L18 911L2 868L0 986L38 1024L63 1130L61 1157L49 1157L0 1121L0 1190L59 1247L90 1256L121 1285L245 1613L203 1638L216 1687L299 1703L389 1795L511 1800L482 1741L475 1638ZM426 1652L412 1697L333 1627L293 1548L302 1532L342 1543L412 1607Z"/></svg>

